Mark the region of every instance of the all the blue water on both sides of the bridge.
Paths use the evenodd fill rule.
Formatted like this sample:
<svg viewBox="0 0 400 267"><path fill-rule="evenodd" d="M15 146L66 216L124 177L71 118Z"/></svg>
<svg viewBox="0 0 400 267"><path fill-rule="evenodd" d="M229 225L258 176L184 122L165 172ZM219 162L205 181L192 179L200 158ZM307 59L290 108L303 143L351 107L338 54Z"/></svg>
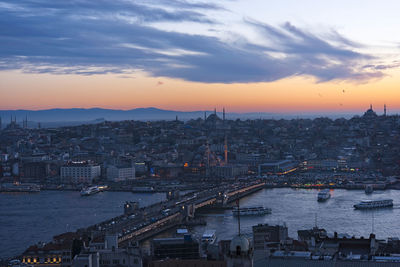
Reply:
<svg viewBox="0 0 400 267"><path fill-rule="evenodd" d="M241 207L263 206L272 209L263 216L241 216L241 234L251 238L257 224L285 224L289 236L314 226L328 233L368 237L374 232L378 239L400 237L400 190L364 191L335 189L326 202L317 201L318 190L275 188L263 189L240 200ZM393 208L355 210L353 205L365 199L393 199ZM81 197L79 192L42 191L40 193L0 194L0 258L21 254L39 241L49 242L54 235L75 231L123 213L126 201L138 201L147 206L165 199L162 193L101 192ZM198 215L207 225L189 231L201 237L205 230L216 230L218 240L235 236L238 218L231 210ZM172 231L162 236L173 235Z"/></svg>

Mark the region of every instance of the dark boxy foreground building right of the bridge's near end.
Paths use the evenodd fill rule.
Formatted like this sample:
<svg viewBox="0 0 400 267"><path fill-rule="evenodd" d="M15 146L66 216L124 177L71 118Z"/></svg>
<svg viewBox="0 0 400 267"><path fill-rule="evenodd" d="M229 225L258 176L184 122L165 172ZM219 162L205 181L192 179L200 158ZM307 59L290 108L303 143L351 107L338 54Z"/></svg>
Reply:
<svg viewBox="0 0 400 267"><path fill-rule="evenodd" d="M152 243L154 259L198 259L199 243L191 235L174 238L155 238Z"/></svg>

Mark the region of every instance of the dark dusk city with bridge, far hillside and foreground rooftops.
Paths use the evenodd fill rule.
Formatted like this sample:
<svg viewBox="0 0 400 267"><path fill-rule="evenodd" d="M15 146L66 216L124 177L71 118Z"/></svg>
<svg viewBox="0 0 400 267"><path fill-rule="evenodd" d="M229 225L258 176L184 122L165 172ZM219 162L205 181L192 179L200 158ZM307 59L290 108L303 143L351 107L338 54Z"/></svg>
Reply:
<svg viewBox="0 0 400 267"><path fill-rule="evenodd" d="M240 198L262 188L364 190L370 185L374 190L399 189L399 140L400 116L387 115L386 107L378 115L372 106L361 116L335 120L227 120L223 110L222 116L215 111L188 121L177 117L174 121L29 128L27 118L20 123L12 117L0 131L2 191L15 192L25 185L31 191L82 194L98 185L109 191L165 192L166 200L147 207L128 201L122 215L60 233L49 243L33 244L9 265L398 262L400 242L396 238L330 234L317 225L296 229L297 239L289 237L285 224L257 223L252 227L252 242L240 234L240 223L239 234L232 240L215 243L209 241L214 241L212 233L200 242L187 229L178 229L175 237L151 237L171 227L204 224L195 211L235 211L235 201L239 210ZM149 239L151 251L146 252L139 242Z"/></svg>

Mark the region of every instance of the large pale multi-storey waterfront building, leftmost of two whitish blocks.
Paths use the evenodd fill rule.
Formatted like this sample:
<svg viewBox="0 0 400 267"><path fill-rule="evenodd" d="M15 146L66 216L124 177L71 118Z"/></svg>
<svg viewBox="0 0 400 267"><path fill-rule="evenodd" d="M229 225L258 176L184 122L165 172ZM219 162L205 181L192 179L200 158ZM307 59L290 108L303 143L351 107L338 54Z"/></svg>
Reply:
<svg viewBox="0 0 400 267"><path fill-rule="evenodd" d="M73 184L91 184L101 174L100 165L90 161L68 162L61 167L61 180Z"/></svg>

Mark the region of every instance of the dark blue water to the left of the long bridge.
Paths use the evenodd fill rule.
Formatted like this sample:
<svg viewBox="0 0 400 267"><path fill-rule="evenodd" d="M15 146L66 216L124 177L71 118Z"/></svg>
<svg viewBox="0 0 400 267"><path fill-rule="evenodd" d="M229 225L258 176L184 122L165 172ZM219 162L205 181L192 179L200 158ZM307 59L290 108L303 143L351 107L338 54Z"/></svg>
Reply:
<svg viewBox="0 0 400 267"><path fill-rule="evenodd" d="M125 201L147 206L165 199L165 194L101 192L81 197L73 191L0 194L0 258L21 254L39 241L75 231L121 215Z"/></svg>

